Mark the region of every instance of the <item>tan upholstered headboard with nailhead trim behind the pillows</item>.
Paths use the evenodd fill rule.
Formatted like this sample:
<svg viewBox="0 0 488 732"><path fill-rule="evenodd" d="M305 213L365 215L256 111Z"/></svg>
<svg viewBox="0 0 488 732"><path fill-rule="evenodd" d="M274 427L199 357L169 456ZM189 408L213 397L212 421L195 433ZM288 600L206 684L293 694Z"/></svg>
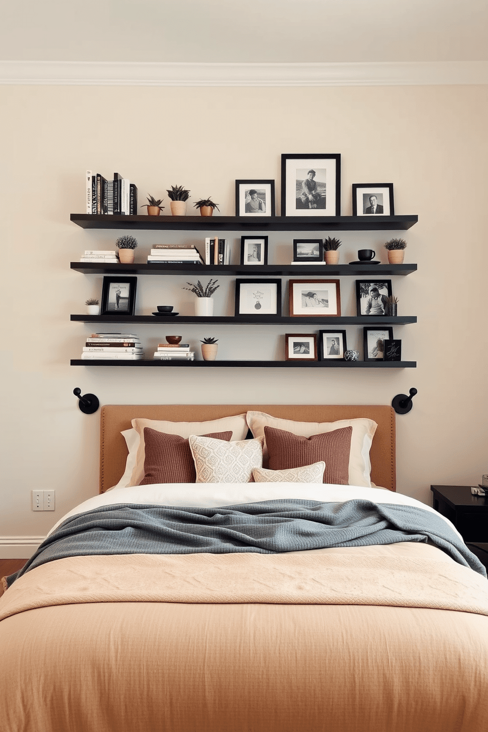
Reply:
<svg viewBox="0 0 488 732"><path fill-rule="evenodd" d="M122 430L131 419L168 419L171 422L203 422L247 410L264 411L274 417L299 422L334 422L336 419L368 417L378 422L372 441L371 479L376 485L396 490L395 413L390 406L304 404L108 404L100 417L100 493L116 485L124 474L127 447Z"/></svg>

